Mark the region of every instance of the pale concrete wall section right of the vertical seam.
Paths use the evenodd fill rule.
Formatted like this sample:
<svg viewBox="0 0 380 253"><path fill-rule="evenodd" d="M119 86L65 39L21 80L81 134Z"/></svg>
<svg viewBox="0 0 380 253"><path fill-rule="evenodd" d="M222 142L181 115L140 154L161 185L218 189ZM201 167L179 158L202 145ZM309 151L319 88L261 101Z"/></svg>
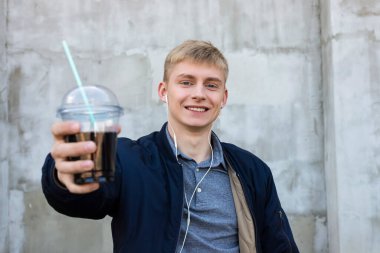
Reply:
<svg viewBox="0 0 380 253"><path fill-rule="evenodd" d="M331 252L380 250L380 2L324 1L325 170Z"/></svg>

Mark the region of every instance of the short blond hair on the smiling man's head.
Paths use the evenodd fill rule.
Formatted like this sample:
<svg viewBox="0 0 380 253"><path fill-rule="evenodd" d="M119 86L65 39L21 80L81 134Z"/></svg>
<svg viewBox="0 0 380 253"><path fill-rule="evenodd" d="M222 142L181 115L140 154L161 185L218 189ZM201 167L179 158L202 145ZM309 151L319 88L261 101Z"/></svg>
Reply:
<svg viewBox="0 0 380 253"><path fill-rule="evenodd" d="M174 65L190 60L196 63L207 63L223 71L224 81L228 76L228 63L223 54L211 42L202 40L186 40L173 48L166 56L164 65L164 82L168 81L169 72Z"/></svg>

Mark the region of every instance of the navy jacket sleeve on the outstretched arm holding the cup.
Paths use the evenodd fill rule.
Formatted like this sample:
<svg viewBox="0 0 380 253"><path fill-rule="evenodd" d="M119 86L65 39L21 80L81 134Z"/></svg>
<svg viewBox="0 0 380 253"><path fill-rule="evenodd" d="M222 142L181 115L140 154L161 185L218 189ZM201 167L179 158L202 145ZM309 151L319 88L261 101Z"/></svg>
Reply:
<svg viewBox="0 0 380 253"><path fill-rule="evenodd" d="M59 213L80 218L101 219L113 216L117 203L117 179L111 183L101 184L100 188L88 194L70 193L60 185L56 177L54 159L47 155L42 167L42 190L48 203ZM120 178L115 176L115 178Z"/></svg>

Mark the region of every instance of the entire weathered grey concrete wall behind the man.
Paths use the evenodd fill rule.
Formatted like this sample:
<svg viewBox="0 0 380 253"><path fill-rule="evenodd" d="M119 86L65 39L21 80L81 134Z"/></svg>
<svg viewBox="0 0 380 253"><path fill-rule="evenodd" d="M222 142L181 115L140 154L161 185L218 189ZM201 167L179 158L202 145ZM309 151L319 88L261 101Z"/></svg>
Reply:
<svg viewBox="0 0 380 253"><path fill-rule="evenodd" d="M380 3L376 0L0 0L0 252L112 252L110 219L54 212L40 167L63 94L106 85L123 136L157 130L163 61L210 40L230 64L223 141L263 158L301 252L380 251Z"/></svg>

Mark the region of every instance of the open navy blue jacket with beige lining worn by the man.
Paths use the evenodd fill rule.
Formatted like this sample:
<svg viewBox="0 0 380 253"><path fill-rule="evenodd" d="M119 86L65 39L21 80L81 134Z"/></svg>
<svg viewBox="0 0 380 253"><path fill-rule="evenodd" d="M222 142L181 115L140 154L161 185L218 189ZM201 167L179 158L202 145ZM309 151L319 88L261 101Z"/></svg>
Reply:
<svg viewBox="0 0 380 253"><path fill-rule="evenodd" d="M183 175L165 133L137 141L119 138L116 176L99 190L71 194L59 186L54 160L47 156L42 187L58 212L89 219L112 219L114 252L176 251L183 211ZM225 159L236 171L255 223L257 252L297 253L287 217L268 166L255 155L222 143Z"/></svg>

